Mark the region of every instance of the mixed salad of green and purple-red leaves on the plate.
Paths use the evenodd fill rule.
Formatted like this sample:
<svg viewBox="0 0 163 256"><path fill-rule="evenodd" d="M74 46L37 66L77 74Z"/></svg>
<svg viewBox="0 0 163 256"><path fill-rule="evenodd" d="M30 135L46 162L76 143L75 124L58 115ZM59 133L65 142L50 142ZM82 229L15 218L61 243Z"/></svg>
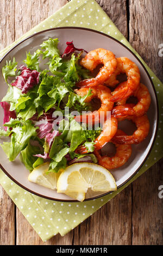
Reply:
<svg viewBox="0 0 163 256"><path fill-rule="evenodd" d="M4 139L1 147L9 161L18 156L30 171L45 161L50 162L49 172L75 162L97 162L93 145L100 129L89 130L72 115L72 111L91 111L85 102L91 90L84 97L74 92L76 82L90 77L78 64L83 49L67 42L61 56L58 44L57 38L49 38L33 54L28 52L21 66L13 58L2 69L8 91L1 101L0 138L9 140ZM43 59L46 64L41 70ZM84 155L75 153L80 144L87 149Z"/></svg>

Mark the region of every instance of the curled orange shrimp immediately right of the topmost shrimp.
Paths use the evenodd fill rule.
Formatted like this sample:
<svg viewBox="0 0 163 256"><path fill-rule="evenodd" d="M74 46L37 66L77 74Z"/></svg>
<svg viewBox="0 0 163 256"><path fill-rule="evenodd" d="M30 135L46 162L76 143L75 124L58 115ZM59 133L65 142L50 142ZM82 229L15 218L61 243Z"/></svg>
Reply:
<svg viewBox="0 0 163 256"><path fill-rule="evenodd" d="M118 80L116 80L115 77L121 73L127 75L127 81L123 82L123 88L121 88L122 84L120 84L118 88L121 88L121 90L117 92L116 89L115 92L112 93L112 102L120 101L133 94L140 83L140 71L137 65L126 57L120 57L117 58L117 70L115 74L113 74L112 77L110 76L110 78L105 81L105 84L117 84Z"/></svg>

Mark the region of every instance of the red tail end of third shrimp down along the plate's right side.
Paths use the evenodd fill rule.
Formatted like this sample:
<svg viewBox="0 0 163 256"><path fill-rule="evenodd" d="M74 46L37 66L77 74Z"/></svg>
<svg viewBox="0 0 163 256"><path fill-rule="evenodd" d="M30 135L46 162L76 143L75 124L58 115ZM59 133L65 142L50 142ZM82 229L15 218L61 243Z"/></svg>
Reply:
<svg viewBox="0 0 163 256"><path fill-rule="evenodd" d="M133 107L134 107L134 104L116 106L112 109L111 114L116 118L125 118L128 116L133 116L135 115L135 111Z"/></svg>

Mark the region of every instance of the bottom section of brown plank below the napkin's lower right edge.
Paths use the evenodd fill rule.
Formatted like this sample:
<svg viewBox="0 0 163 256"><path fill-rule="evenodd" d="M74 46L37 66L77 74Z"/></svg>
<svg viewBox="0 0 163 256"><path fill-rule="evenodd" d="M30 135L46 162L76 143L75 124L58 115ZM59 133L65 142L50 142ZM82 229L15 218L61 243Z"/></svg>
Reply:
<svg viewBox="0 0 163 256"><path fill-rule="evenodd" d="M74 229L75 245L131 244L131 186Z"/></svg>

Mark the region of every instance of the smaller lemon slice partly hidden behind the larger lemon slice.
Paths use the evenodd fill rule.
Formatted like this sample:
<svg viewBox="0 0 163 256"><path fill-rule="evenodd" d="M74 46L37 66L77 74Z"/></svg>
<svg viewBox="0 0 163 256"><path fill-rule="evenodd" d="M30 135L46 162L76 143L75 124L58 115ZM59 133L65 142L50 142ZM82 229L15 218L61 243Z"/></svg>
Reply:
<svg viewBox="0 0 163 256"><path fill-rule="evenodd" d="M51 188L52 190L57 189L57 180L60 175L59 173L48 173L49 163L43 163L40 166L37 166L29 174L28 180L35 182L41 186Z"/></svg>

